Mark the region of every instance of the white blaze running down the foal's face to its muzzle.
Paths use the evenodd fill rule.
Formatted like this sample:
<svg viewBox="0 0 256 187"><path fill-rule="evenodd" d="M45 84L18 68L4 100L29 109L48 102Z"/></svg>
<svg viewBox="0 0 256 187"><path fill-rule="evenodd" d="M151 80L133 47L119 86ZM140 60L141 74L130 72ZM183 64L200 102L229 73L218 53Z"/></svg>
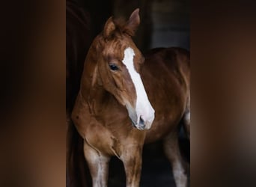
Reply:
<svg viewBox="0 0 256 187"><path fill-rule="evenodd" d="M155 111L147 98L147 93L141 81L141 76L135 70L133 62L134 55L135 53L132 48L128 47L125 49L123 63L126 65L129 75L131 76L137 95L135 106L135 111L138 117L137 123L139 122L140 117L142 117L143 120L149 123L148 125L151 125L154 119ZM146 129L149 128L150 126L147 126L146 124Z"/></svg>

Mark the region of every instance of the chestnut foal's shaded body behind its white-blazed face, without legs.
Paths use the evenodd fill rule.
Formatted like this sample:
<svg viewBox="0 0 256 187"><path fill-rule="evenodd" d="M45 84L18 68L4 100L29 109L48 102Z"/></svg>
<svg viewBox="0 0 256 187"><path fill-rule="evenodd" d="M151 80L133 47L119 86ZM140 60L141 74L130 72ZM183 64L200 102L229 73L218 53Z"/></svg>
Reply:
<svg viewBox="0 0 256 187"><path fill-rule="evenodd" d="M155 108L153 126L146 142L156 141L177 128L189 95L190 64L186 49L151 49L141 73L150 102Z"/></svg>

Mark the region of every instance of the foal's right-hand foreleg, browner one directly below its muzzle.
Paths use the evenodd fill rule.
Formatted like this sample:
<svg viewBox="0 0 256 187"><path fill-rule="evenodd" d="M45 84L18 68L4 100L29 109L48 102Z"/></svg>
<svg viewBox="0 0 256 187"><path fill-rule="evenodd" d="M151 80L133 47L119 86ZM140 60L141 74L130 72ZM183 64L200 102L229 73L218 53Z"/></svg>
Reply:
<svg viewBox="0 0 256 187"><path fill-rule="evenodd" d="M127 187L138 187L141 177L142 146L126 147L121 155L127 176Z"/></svg>

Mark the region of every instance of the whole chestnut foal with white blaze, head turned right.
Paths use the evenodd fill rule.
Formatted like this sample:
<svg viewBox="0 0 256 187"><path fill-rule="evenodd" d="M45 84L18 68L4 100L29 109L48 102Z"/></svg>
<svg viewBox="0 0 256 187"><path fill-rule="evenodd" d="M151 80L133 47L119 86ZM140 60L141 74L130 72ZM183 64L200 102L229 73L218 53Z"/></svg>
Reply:
<svg viewBox="0 0 256 187"><path fill-rule="evenodd" d="M143 145L160 139L176 186L187 186L178 130L183 121L190 134L189 52L173 47L142 55L132 41L138 12L127 21L111 16L95 37L71 118L83 139L94 187L107 186L112 156L124 163L127 187L138 187Z"/></svg>

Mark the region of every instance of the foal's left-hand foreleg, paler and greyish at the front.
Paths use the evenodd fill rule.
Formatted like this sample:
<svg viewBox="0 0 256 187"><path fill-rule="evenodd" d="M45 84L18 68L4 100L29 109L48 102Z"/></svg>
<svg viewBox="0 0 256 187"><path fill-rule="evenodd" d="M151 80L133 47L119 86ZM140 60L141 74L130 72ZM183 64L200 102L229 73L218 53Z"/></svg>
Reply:
<svg viewBox="0 0 256 187"><path fill-rule="evenodd" d="M84 154L90 169L93 187L108 186L110 157L95 150L86 141L84 143Z"/></svg>

